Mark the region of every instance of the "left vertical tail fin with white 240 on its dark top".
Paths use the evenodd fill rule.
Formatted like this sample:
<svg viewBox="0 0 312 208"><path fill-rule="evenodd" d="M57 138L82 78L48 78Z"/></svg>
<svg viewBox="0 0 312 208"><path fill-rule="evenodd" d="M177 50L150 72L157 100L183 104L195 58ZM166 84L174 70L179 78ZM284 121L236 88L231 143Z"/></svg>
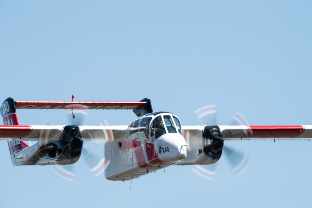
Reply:
<svg viewBox="0 0 312 208"><path fill-rule="evenodd" d="M0 112L4 125L19 125L14 100L12 98L4 100L0 107ZM9 145L12 163L15 165L15 152L27 148L28 145L23 141L8 141L7 143Z"/></svg>

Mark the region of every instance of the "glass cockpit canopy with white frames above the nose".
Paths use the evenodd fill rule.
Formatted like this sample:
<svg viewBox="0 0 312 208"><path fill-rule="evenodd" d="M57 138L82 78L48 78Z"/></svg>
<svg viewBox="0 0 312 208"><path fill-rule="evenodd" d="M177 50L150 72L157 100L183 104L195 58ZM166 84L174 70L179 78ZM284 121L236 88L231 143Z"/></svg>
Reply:
<svg viewBox="0 0 312 208"><path fill-rule="evenodd" d="M130 123L130 137L139 140L155 139L165 133L182 134L182 126L178 117L167 112L154 112L144 115Z"/></svg>

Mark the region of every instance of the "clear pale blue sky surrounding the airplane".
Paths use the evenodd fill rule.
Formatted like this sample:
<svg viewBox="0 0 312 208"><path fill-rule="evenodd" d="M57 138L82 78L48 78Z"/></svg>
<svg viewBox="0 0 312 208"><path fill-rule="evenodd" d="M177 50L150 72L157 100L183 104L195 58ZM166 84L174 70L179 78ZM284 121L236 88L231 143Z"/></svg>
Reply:
<svg viewBox="0 0 312 208"><path fill-rule="evenodd" d="M240 112L251 125L312 124L311 1L2 1L0 100L139 101L199 125ZM2 102L2 101L1 101ZM62 110L17 110L22 125L68 124ZM94 110L87 125L126 125L130 110ZM232 178L226 157L214 181L168 167L132 181L75 181L51 167L13 167L0 142L0 207L310 207L312 143L227 142L252 159ZM85 144L99 157L103 144Z"/></svg>

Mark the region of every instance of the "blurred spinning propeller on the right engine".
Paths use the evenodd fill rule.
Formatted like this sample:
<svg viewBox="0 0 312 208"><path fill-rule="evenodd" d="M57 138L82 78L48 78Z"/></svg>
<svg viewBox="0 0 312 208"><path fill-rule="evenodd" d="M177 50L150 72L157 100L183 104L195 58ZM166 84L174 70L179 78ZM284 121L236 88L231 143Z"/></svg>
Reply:
<svg viewBox="0 0 312 208"><path fill-rule="evenodd" d="M216 105L207 105L199 108L195 111L195 115L202 125L216 125L215 114L217 113ZM249 125L248 121L240 114L236 113L233 116L231 125ZM212 139L211 146L223 148L225 155L227 156L228 162L232 168L233 178L239 176L246 170L251 162L251 158L245 154L240 153L233 147L223 146L223 139L221 137L215 137ZM209 146L207 146L209 148ZM216 163L212 165L195 165L192 170L199 176L209 180L213 180L216 175Z"/></svg>

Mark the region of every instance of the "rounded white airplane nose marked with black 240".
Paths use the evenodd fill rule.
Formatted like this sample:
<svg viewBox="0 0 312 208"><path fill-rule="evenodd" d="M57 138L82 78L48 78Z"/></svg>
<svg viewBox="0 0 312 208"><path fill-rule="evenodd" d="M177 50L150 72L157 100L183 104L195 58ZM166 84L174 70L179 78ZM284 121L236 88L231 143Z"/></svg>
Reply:
<svg viewBox="0 0 312 208"><path fill-rule="evenodd" d="M163 162L174 162L186 158L186 142L179 133L166 133L154 142L158 158Z"/></svg>

